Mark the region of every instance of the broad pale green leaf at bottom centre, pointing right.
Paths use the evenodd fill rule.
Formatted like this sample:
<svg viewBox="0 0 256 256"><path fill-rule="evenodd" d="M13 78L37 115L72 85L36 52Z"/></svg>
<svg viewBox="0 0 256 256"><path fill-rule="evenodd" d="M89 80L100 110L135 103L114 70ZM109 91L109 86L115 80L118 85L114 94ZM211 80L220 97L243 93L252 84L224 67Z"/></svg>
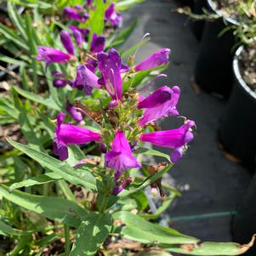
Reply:
<svg viewBox="0 0 256 256"><path fill-rule="evenodd" d="M113 213L112 217L113 219L120 219L125 224L122 235L134 241L155 244L196 244L199 242L194 237L185 236L174 229L152 224L133 213L121 211Z"/></svg>

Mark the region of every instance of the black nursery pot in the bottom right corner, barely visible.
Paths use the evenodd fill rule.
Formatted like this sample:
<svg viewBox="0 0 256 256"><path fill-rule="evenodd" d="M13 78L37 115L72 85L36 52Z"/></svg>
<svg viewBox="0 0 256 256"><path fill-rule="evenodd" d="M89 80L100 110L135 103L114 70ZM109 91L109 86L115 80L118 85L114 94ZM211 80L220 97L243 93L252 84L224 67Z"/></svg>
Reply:
<svg viewBox="0 0 256 256"><path fill-rule="evenodd" d="M256 233L256 174L249 185L243 201L237 208L237 214L232 219L232 238L234 242L247 243ZM244 256L255 256L256 247L251 247Z"/></svg>

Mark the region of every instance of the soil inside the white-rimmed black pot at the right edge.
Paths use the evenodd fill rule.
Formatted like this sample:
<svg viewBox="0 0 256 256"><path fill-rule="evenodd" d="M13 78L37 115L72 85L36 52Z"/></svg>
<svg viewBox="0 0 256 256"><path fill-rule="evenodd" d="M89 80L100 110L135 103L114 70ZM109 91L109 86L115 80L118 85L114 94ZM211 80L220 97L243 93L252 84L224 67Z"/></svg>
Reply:
<svg viewBox="0 0 256 256"><path fill-rule="evenodd" d="M244 81L256 93L256 42L242 51L239 68Z"/></svg>

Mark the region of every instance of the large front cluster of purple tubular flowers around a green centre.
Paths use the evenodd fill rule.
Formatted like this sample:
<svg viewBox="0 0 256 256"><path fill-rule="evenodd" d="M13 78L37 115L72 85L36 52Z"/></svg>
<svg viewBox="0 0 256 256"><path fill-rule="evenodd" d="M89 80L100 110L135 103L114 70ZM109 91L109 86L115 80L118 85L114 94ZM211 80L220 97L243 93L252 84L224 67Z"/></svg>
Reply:
<svg viewBox="0 0 256 256"><path fill-rule="evenodd" d="M119 180L125 170L141 168L141 163L134 156L138 143L148 142L167 147L171 149L171 162L178 162L187 144L193 139L191 128L195 126L195 122L185 120L181 127L167 131L145 133L145 130L150 126L153 127L153 123L162 117L179 116L179 111L176 109L179 87L162 86L147 97L142 97L132 89L127 93L122 92L122 82L127 74L167 64L168 53L169 49L161 49L138 65L129 67L122 64L121 57L114 48L108 53L101 51L97 54L97 67L101 77L97 77L86 65L77 65L77 77L73 87L83 88L86 94L90 94L93 88L105 90L111 100L105 106L105 115L98 113L97 124L100 125L100 129L97 132L64 123L65 114L58 115L54 152L60 160L64 161L68 157L67 145L84 145L92 141L104 145L105 167L114 171L116 183L114 194L122 191L131 181L130 177ZM75 112L92 119L91 111L84 110L86 106L83 108L81 105L75 108L77 110Z"/></svg>

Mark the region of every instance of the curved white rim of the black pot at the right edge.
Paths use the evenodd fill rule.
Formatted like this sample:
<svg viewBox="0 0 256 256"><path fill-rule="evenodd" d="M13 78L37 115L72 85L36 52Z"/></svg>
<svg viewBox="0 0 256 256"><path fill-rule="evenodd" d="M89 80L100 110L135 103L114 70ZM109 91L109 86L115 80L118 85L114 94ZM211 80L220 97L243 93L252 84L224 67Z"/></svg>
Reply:
<svg viewBox="0 0 256 256"><path fill-rule="evenodd" d="M235 73L236 79L237 79L238 83L240 84L240 86L247 92L247 94L249 94L253 98L253 100L256 100L256 94L244 81L244 79L242 78L240 69L239 69L239 56L242 53L243 49L244 49L244 46L242 45L236 50L236 54L235 54L234 60L233 60L233 71Z"/></svg>

